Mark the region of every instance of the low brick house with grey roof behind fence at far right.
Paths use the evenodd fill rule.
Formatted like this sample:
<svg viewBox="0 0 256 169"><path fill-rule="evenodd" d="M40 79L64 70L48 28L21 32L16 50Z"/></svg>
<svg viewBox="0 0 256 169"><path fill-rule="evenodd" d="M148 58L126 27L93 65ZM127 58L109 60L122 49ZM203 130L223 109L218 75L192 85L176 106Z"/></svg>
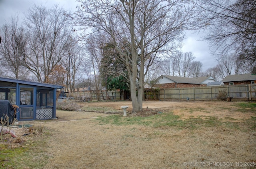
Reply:
<svg viewBox="0 0 256 169"><path fill-rule="evenodd" d="M242 74L242 75L228 75L223 80L224 85L246 85L256 84L256 75Z"/></svg>

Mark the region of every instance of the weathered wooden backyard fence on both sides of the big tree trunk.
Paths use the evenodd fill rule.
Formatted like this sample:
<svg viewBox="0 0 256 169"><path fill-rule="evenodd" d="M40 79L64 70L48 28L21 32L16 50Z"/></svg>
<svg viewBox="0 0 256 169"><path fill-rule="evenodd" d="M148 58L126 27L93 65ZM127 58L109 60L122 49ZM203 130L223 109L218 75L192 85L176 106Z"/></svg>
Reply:
<svg viewBox="0 0 256 169"><path fill-rule="evenodd" d="M256 100L256 84L248 85L229 85L229 86L202 86L194 88L169 88L169 89L147 89L145 90L146 99L160 100L218 100L218 94L226 90L227 96L232 100ZM79 92L67 93L67 97L84 100L90 97L97 99L96 93ZM100 93L100 100L106 99L106 92ZM109 91L109 100L121 100L120 92Z"/></svg>

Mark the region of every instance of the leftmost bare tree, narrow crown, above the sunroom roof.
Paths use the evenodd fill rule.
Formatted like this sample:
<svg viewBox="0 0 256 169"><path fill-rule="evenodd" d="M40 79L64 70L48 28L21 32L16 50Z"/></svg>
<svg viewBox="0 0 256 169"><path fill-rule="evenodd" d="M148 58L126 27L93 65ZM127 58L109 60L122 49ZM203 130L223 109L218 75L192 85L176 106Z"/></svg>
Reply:
<svg viewBox="0 0 256 169"><path fill-rule="evenodd" d="M26 50L27 34L25 28L19 26L18 22L18 16L12 16L11 21L2 27L0 45L1 68L9 72L7 76L14 75L16 79L20 79L23 73L26 74L22 64L22 53Z"/></svg>

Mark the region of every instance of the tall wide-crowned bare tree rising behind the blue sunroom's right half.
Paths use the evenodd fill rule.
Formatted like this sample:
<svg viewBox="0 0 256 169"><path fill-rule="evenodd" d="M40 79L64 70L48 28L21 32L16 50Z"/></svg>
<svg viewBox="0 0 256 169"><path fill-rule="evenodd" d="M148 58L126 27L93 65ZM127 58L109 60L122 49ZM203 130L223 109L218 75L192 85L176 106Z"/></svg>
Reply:
<svg viewBox="0 0 256 169"><path fill-rule="evenodd" d="M26 26L30 33L30 52L24 53L25 66L39 82L50 83L49 75L64 56L70 39L68 12L58 5L48 9L36 6L28 10Z"/></svg>

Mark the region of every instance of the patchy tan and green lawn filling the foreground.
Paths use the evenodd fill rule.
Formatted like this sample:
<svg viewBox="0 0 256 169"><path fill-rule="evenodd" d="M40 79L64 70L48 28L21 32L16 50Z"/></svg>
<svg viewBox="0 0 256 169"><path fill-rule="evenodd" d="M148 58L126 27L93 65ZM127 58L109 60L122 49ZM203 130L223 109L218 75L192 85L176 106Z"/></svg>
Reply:
<svg viewBox="0 0 256 169"><path fill-rule="evenodd" d="M221 107L229 109L230 105L226 105ZM179 110L182 108L177 106ZM86 109L113 110L102 105ZM191 112L208 111L206 108L191 109ZM252 106L250 111L254 110ZM44 127L39 125L37 129L38 132L42 129L41 134L28 135L27 140L18 144L0 143L0 168L210 169L212 166L200 166L200 162L255 163L256 117L238 122L232 116L212 116L217 111L192 116L188 108L186 112L190 118L186 119L171 110L152 116L126 117L122 114L58 111L61 120L44 121ZM187 167L185 162L199 166ZM233 165L232 168L236 167Z"/></svg>

